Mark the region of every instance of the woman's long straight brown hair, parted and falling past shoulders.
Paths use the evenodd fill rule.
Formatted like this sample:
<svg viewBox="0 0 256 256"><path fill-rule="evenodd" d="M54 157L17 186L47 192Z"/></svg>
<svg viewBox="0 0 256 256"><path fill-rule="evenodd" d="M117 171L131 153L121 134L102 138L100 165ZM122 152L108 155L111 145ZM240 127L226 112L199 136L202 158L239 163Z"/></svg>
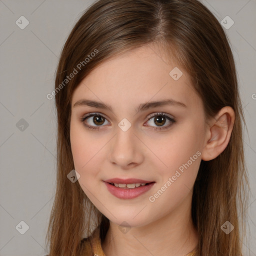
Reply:
<svg viewBox="0 0 256 256"><path fill-rule="evenodd" d="M225 32L198 0L99 0L74 25L56 70L52 95L57 110L57 177L46 236L50 256L82 255L80 240L91 234L93 223L94 227L100 224L101 238L109 225L78 182L67 178L74 169L69 138L72 92L107 58L152 42L161 44L191 76L206 117L214 116L223 106L234 109L228 145L215 159L201 160L191 216L198 230L199 255L241 255L248 185L242 140L244 118ZM71 73L73 77L67 79ZM221 230L225 221L234 226L229 234Z"/></svg>

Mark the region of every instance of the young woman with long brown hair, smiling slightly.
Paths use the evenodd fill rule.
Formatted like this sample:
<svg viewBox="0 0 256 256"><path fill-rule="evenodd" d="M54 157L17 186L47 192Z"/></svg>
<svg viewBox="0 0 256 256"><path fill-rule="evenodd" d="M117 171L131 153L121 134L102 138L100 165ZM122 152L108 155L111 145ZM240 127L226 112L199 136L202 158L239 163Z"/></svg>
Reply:
<svg viewBox="0 0 256 256"><path fill-rule="evenodd" d="M228 40L204 5L95 2L52 95L50 256L242 254L243 114Z"/></svg>

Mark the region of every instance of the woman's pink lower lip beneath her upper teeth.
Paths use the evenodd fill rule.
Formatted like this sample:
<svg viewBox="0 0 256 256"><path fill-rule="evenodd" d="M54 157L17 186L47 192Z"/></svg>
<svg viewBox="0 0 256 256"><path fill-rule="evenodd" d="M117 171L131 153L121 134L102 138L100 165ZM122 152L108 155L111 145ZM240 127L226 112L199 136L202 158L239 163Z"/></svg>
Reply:
<svg viewBox="0 0 256 256"><path fill-rule="evenodd" d="M112 195L120 199L132 199L148 191L154 185L155 182L151 182L151 183L148 183L147 185L138 186L135 188L120 188L120 187L111 185L108 182L104 182L104 183L106 184L108 191Z"/></svg>

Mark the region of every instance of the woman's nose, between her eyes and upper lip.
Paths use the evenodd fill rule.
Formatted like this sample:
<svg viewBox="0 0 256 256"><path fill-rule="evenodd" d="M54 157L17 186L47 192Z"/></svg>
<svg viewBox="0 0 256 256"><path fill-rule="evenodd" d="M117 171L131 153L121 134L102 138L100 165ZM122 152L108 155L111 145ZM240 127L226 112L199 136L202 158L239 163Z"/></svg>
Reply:
<svg viewBox="0 0 256 256"><path fill-rule="evenodd" d="M110 143L109 161L123 169L135 167L144 159L143 149L143 144L134 134L132 127L126 131L117 127Z"/></svg>

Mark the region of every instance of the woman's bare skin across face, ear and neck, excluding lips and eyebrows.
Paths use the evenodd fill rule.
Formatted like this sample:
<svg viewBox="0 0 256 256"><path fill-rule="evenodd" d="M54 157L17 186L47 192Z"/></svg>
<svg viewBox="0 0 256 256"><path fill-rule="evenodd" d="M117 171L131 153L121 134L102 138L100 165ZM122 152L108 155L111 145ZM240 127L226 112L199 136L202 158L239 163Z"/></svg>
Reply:
<svg viewBox="0 0 256 256"><path fill-rule="evenodd" d="M174 67L183 73L178 80L169 75ZM76 103L83 99L103 102L111 110ZM135 111L141 103L165 99L185 106L162 105ZM91 112L96 114L81 120ZM95 119L99 113L103 118ZM156 117L149 118L149 114ZM123 118L131 124L126 131L118 126ZM106 256L183 256L197 246L198 234L190 213L193 184L200 160L213 159L225 149L233 122L234 111L228 106L205 119L202 100L189 75L178 63L167 61L156 43L104 61L78 84L71 99L71 150L81 188L110 221L101 242ZM196 152L198 157L151 202L149 196ZM103 182L114 177L155 183L136 198L120 199ZM128 229L123 231L121 226Z"/></svg>

